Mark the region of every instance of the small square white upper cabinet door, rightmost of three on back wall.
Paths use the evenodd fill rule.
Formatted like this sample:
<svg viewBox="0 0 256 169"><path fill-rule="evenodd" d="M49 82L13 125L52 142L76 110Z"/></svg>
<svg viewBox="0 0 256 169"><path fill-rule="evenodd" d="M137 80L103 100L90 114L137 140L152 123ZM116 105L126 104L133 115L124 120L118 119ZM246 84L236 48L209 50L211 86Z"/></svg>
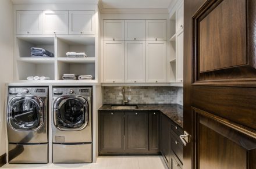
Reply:
<svg viewBox="0 0 256 169"><path fill-rule="evenodd" d="M166 41L166 20L147 20L147 41Z"/></svg>

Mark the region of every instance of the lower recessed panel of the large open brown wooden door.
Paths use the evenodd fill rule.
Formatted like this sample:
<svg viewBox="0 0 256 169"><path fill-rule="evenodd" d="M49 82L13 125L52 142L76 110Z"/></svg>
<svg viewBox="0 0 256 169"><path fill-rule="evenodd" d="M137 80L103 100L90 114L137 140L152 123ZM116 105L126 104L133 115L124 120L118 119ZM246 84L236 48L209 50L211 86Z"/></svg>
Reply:
<svg viewBox="0 0 256 169"><path fill-rule="evenodd" d="M197 168L247 168L254 166L256 139L235 130L211 113L193 108L197 138ZM230 126L229 126L230 125ZM233 126L233 127L232 127Z"/></svg>

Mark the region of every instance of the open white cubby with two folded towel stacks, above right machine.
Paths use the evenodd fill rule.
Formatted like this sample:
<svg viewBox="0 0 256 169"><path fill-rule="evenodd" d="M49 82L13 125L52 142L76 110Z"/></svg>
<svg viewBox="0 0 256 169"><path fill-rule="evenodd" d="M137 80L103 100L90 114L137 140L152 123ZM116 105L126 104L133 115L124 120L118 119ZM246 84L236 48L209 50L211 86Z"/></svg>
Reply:
<svg viewBox="0 0 256 169"><path fill-rule="evenodd" d="M79 74L79 75L91 74L93 75L93 78L95 77L94 63L78 62L78 60L75 60L75 59L78 59L78 58L74 58L73 62L70 62L70 60L58 60L58 80L62 80L63 74Z"/></svg>

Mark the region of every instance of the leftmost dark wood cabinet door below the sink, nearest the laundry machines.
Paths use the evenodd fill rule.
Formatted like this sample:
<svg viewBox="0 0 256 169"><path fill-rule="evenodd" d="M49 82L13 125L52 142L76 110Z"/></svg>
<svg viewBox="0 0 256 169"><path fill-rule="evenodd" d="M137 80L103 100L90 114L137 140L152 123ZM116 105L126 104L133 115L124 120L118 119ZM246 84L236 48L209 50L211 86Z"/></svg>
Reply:
<svg viewBox="0 0 256 169"><path fill-rule="evenodd" d="M99 113L99 155L124 153L124 113Z"/></svg>

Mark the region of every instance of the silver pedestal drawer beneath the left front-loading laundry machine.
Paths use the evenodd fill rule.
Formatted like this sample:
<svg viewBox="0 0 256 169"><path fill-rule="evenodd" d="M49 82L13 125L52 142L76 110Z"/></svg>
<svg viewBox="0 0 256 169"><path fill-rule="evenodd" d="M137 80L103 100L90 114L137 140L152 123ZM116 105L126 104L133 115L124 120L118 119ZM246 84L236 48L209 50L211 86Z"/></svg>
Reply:
<svg viewBox="0 0 256 169"><path fill-rule="evenodd" d="M9 143L9 163L48 163L48 143Z"/></svg>

